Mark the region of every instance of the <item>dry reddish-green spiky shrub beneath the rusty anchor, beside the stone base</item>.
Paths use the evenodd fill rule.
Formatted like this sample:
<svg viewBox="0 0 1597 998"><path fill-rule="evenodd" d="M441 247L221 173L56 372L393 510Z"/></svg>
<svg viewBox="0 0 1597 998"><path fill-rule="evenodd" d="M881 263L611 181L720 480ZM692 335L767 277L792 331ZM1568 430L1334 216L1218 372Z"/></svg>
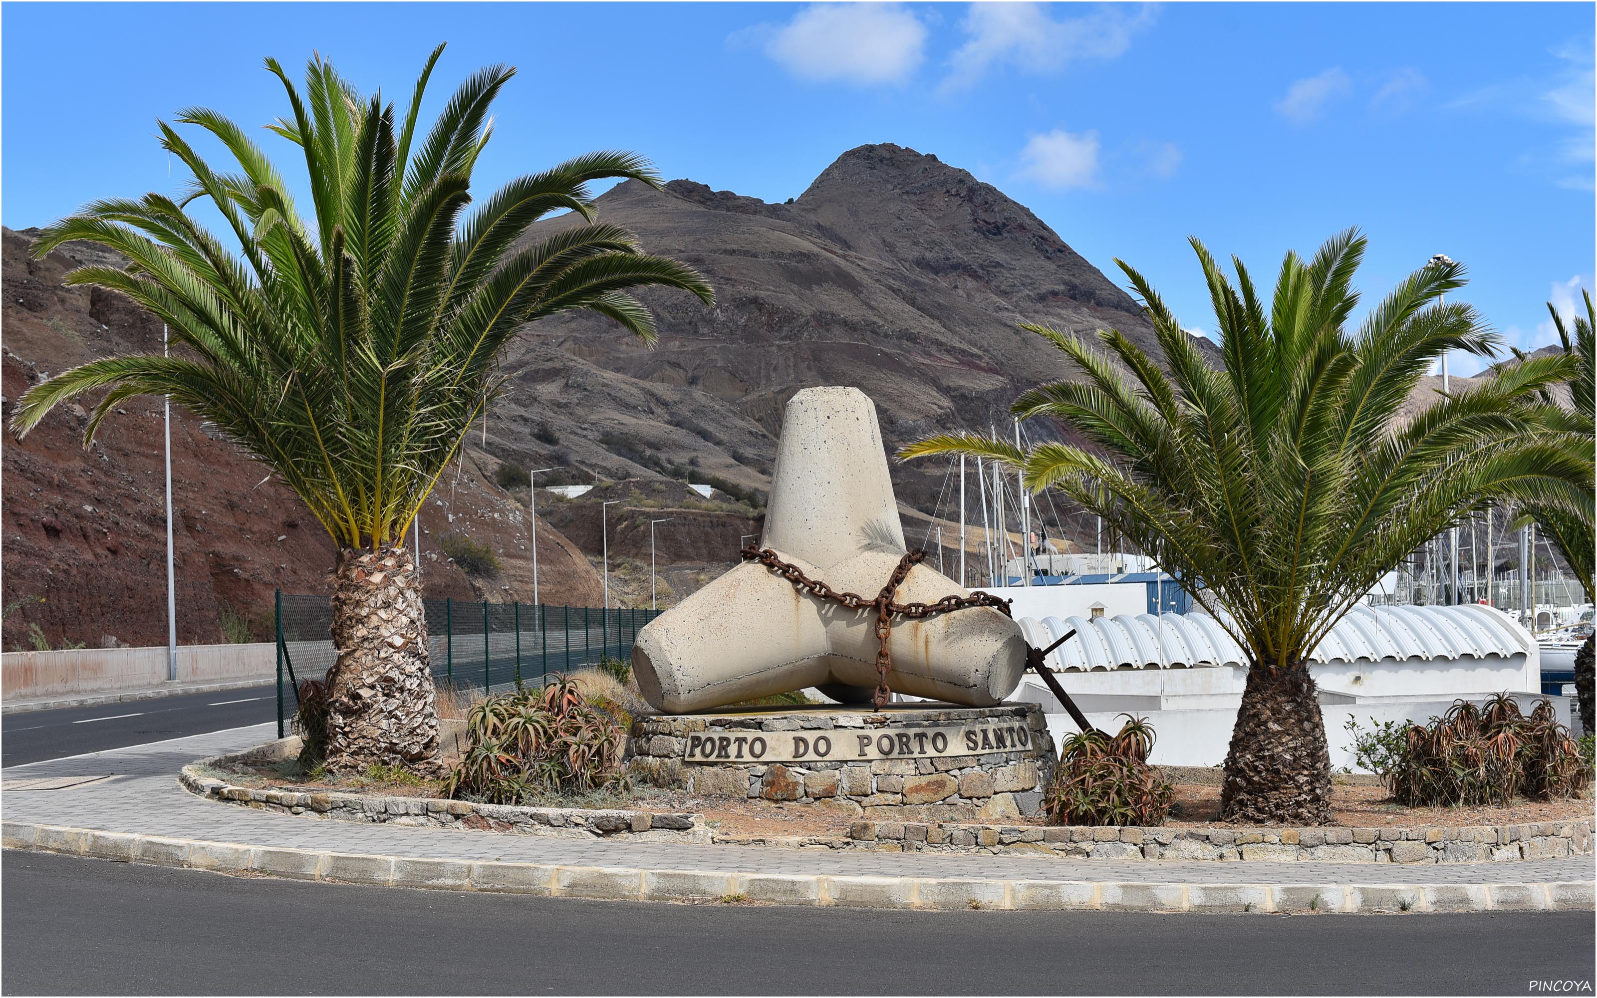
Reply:
<svg viewBox="0 0 1597 998"><path fill-rule="evenodd" d="M1156 826L1175 802L1175 787L1148 765L1153 725L1121 714L1110 738L1097 728L1065 738L1054 779L1043 794L1051 824Z"/></svg>

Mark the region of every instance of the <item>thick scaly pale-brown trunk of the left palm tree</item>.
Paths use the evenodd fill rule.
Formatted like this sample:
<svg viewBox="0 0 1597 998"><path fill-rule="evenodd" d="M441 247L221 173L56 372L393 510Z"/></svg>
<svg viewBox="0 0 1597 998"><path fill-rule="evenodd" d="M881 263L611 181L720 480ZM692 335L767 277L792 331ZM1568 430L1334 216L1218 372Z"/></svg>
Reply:
<svg viewBox="0 0 1597 998"><path fill-rule="evenodd" d="M438 691L409 551L339 552L332 647L339 661L327 671L327 768L348 773L378 763L438 773Z"/></svg>

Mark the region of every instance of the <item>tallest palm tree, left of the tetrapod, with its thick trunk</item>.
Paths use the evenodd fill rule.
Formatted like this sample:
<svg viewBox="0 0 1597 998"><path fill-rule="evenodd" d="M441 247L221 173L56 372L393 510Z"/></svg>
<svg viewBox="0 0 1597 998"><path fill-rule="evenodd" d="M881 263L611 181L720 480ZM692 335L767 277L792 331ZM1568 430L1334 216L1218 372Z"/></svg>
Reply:
<svg viewBox="0 0 1597 998"><path fill-rule="evenodd" d="M698 273L594 220L589 182L658 185L632 153L589 153L519 177L463 216L492 129L489 105L514 69L468 78L422 139L417 112L442 50L402 117L319 56L303 93L267 59L291 109L267 128L305 156L311 219L243 128L196 107L177 120L220 141L233 166L214 169L161 121L161 145L192 174L184 196L93 201L34 244L46 254L83 240L126 257L121 268L81 267L67 284L126 294L168 324L179 350L104 358L37 385L13 418L19 434L61 402L109 390L86 446L121 399L171 396L265 463L337 543L334 770L438 768L426 620L404 538L466 428L501 391L509 337L586 308L652 342L653 319L631 289L714 300ZM196 201L220 216L224 235L192 214ZM583 224L524 240L559 211Z"/></svg>

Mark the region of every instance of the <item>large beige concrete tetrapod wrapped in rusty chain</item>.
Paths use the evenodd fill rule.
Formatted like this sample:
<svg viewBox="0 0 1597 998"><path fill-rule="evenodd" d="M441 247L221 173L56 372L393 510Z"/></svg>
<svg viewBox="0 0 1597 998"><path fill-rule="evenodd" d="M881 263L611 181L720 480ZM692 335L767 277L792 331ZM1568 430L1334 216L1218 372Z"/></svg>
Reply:
<svg viewBox="0 0 1597 998"><path fill-rule="evenodd" d="M905 552L877 407L854 388L808 388L787 402L762 548L837 591L874 599ZM966 596L928 568L909 570L899 604ZM632 671L658 711L687 714L821 687L869 701L877 687L877 613L800 592L744 562L637 634ZM990 607L896 618L888 683L898 693L987 707L1025 669L1020 628Z"/></svg>

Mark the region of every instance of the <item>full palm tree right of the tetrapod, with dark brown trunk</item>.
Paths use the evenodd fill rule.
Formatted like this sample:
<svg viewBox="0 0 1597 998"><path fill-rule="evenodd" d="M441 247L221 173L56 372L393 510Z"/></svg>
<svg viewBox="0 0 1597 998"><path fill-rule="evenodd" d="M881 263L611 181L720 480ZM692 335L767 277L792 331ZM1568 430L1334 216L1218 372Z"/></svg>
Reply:
<svg viewBox="0 0 1597 998"><path fill-rule="evenodd" d="M966 452L1059 489L1182 578L1246 650L1247 682L1225 760L1222 818L1330 821L1330 760L1308 656L1381 575L1421 541L1509 487L1559 503L1576 474L1567 450L1527 434L1528 394L1567 370L1536 359L1440 398L1401 425L1444 350L1488 354L1498 337L1468 305L1458 263L1428 265L1359 324L1353 276L1365 240L1348 230L1313 260L1287 254L1270 299L1241 260L1228 278L1196 240L1219 318L1212 367L1148 281L1140 295L1163 364L1116 331L1099 351L1051 340L1086 374L1014 402L1056 417L1094 449L934 436L904 457ZM1129 378L1116 367L1116 361Z"/></svg>

